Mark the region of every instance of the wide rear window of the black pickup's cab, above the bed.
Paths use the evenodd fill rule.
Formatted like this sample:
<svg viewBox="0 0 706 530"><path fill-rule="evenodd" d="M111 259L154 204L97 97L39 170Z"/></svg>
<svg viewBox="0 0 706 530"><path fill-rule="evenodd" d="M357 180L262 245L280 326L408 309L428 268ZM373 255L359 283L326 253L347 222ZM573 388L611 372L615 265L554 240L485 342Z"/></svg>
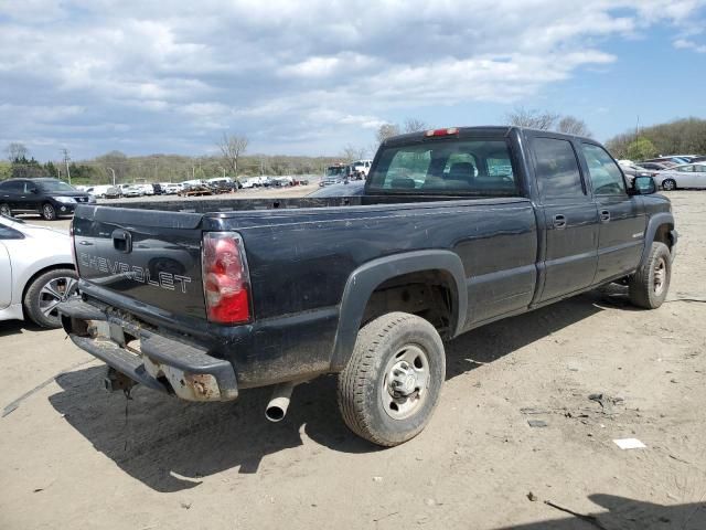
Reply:
<svg viewBox="0 0 706 530"><path fill-rule="evenodd" d="M504 140L445 140L388 147L368 177L371 192L516 195Z"/></svg>

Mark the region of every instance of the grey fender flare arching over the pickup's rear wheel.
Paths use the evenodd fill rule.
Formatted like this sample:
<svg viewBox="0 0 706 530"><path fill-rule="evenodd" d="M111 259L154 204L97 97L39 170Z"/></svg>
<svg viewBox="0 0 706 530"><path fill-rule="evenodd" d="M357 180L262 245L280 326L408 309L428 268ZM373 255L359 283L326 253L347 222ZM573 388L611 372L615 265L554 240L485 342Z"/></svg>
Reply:
<svg viewBox="0 0 706 530"><path fill-rule="evenodd" d="M451 329L453 336L461 331L466 322L468 290L463 264L458 254L450 251L415 251L381 257L353 271L345 284L331 356L332 371L345 368L353 353L363 311L377 286L395 276L424 271L443 271L453 278L456 286L451 286L454 296Z"/></svg>

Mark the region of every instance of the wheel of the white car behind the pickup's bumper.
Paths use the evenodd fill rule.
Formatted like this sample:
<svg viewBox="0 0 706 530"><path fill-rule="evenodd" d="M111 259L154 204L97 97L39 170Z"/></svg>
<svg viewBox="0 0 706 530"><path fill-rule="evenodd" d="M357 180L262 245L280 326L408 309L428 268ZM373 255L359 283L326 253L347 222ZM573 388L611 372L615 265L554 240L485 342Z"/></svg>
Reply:
<svg viewBox="0 0 706 530"><path fill-rule="evenodd" d="M43 328L60 328L61 319L53 303L66 299L67 296L61 295L65 295L66 289L73 286L72 280L76 279L76 272L73 268L54 268L39 275L24 293L22 300L24 314ZM51 287L50 290L45 289L47 286ZM52 295L51 290L60 296ZM51 310L47 311L47 309Z"/></svg>

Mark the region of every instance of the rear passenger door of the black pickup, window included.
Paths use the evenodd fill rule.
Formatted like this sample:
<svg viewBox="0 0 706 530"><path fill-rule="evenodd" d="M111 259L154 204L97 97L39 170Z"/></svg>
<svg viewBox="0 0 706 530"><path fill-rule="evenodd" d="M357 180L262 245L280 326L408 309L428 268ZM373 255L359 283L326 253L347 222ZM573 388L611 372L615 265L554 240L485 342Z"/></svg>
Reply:
<svg viewBox="0 0 706 530"><path fill-rule="evenodd" d="M545 229L536 300L543 303L591 285L598 263L598 212L569 140L538 134L532 138L532 151Z"/></svg>

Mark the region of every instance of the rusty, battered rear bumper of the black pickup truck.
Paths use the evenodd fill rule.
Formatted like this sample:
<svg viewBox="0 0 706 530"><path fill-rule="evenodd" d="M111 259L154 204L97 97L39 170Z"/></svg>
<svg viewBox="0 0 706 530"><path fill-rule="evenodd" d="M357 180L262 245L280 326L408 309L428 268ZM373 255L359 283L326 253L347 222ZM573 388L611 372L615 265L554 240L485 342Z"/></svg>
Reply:
<svg viewBox="0 0 706 530"><path fill-rule="evenodd" d="M233 364L204 349L143 329L81 299L57 309L64 330L78 348L137 383L189 401L238 396Z"/></svg>

